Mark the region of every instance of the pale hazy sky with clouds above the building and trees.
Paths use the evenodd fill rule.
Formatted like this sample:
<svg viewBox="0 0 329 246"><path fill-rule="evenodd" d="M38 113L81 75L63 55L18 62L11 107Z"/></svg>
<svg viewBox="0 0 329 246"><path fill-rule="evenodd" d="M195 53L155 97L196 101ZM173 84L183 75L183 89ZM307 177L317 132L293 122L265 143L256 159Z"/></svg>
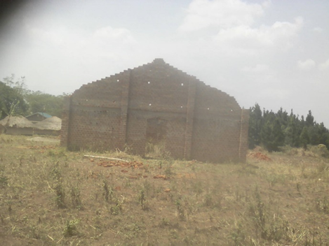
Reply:
<svg viewBox="0 0 329 246"><path fill-rule="evenodd" d="M163 58L241 107L311 110L329 127L328 0L18 2L3 8L0 80L72 93Z"/></svg>

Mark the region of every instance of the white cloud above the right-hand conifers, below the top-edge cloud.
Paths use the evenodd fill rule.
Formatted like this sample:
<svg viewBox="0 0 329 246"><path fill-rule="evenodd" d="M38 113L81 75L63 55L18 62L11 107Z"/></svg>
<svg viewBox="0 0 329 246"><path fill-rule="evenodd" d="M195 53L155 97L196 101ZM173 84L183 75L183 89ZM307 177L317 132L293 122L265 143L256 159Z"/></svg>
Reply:
<svg viewBox="0 0 329 246"><path fill-rule="evenodd" d="M273 46L286 49L293 46L291 40L297 36L302 24L302 17L297 17L295 23L275 22L271 27L262 25L259 28L251 28L240 25L220 30L215 36L215 41L242 49Z"/></svg>

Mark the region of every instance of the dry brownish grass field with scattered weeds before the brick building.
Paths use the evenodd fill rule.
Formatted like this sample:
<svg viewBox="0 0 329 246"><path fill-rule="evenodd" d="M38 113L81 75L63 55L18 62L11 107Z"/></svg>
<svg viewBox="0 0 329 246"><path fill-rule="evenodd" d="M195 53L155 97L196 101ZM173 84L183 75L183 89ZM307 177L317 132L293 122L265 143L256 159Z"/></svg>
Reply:
<svg viewBox="0 0 329 246"><path fill-rule="evenodd" d="M1 245L329 245L327 150L206 164L30 138L0 136Z"/></svg>

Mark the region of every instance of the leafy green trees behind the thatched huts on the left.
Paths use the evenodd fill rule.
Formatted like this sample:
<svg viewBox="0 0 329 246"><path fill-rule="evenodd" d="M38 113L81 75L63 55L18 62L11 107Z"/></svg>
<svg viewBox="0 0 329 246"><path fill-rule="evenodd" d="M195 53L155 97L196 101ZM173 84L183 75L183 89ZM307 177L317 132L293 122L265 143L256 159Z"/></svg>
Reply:
<svg viewBox="0 0 329 246"><path fill-rule="evenodd" d="M0 120L8 115L27 116L37 112L61 117L65 96L29 90L24 77L15 81L12 74L0 81Z"/></svg>

